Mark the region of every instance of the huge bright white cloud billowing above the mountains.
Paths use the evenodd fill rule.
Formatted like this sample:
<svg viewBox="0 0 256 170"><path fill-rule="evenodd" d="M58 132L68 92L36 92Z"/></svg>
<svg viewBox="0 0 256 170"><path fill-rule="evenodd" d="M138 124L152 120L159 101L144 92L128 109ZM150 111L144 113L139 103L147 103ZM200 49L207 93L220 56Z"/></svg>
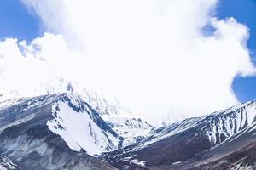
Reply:
<svg viewBox="0 0 256 170"><path fill-rule="evenodd" d="M214 18L216 0L22 1L46 31L63 35L45 34L22 53L15 40L2 42L3 49L12 42L15 50L0 54L26 68L19 71L26 81L18 80L27 87L54 79L54 72L117 97L151 121L173 121L172 115L199 116L237 103L233 78L254 71L247 27ZM216 31L204 37L209 23Z"/></svg>

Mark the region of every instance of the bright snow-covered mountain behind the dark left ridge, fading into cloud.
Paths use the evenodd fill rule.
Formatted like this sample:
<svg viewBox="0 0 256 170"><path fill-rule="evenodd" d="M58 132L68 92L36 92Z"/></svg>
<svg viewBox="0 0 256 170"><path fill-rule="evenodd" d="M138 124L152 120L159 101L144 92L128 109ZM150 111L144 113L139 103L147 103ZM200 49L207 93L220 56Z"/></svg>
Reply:
<svg viewBox="0 0 256 170"><path fill-rule="evenodd" d="M125 108L119 101L85 89L75 82L67 82L61 79L51 84L43 84L42 88L36 91L35 94L38 94L38 96L52 94L73 94L79 96L79 100L89 104L90 108L96 111L102 120L107 122L108 126L114 128L113 130L120 137L118 141L119 147L124 147L143 139L153 128L148 122L143 121L141 117L135 116L130 109ZM1 105L14 105L16 100L20 99L20 96L15 90L10 93L0 94L0 107Z"/></svg>

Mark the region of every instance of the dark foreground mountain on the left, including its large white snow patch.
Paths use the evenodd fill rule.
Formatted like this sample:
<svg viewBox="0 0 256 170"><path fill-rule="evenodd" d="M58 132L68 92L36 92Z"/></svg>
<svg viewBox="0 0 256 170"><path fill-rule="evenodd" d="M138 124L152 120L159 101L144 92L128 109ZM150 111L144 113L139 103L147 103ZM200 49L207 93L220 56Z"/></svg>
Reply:
<svg viewBox="0 0 256 170"><path fill-rule="evenodd" d="M94 155L118 147L119 135L73 94L0 108L0 156L21 169L114 169Z"/></svg>

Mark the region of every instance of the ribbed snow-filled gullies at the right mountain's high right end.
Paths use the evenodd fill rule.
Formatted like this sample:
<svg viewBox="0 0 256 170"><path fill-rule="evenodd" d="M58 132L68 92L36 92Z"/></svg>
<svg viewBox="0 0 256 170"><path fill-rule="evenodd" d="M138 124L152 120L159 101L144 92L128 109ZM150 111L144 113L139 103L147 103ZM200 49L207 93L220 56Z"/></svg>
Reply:
<svg viewBox="0 0 256 170"><path fill-rule="evenodd" d="M212 146L221 144L236 134L252 131L256 123L256 102L235 105L224 111L217 111L198 123L205 124L201 136L207 136Z"/></svg>

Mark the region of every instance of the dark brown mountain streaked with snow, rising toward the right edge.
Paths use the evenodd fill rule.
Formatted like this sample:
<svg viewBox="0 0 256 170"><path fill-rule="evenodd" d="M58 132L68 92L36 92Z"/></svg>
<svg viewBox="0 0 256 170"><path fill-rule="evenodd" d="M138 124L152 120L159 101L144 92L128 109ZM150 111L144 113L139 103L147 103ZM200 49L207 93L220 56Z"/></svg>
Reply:
<svg viewBox="0 0 256 170"><path fill-rule="evenodd" d="M138 144L102 155L119 169L253 169L256 102L154 128Z"/></svg>

